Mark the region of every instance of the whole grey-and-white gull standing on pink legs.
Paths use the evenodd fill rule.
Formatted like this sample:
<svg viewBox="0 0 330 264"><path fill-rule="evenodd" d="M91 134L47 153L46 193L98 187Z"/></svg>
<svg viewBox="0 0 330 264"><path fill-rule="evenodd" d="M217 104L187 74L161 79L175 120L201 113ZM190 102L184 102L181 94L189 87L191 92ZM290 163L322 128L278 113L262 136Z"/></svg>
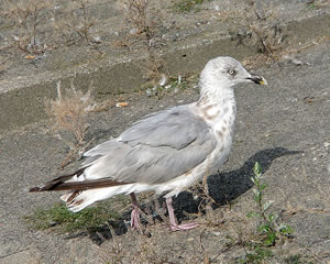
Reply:
<svg viewBox="0 0 330 264"><path fill-rule="evenodd" d="M231 57L209 61L200 74L199 100L145 116L122 134L84 153L86 161L73 174L59 176L30 193L69 190L62 196L77 212L116 195L132 199L131 227L140 227L135 194L164 194L172 231L197 223L182 223L175 217L173 197L218 172L232 145L239 84L267 85Z"/></svg>

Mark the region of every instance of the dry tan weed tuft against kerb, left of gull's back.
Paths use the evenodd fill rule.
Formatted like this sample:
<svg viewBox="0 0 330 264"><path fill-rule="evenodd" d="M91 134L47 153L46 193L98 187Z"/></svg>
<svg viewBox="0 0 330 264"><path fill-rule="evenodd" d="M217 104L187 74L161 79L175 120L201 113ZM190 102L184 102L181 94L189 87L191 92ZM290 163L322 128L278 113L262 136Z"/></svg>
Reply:
<svg viewBox="0 0 330 264"><path fill-rule="evenodd" d="M57 82L57 99L45 100L46 112L55 121L56 131L68 131L74 138L74 144L69 143L70 153L63 161L62 167L65 167L75 156L75 154L81 155L81 153L89 145L85 142L85 136L88 131L87 116L95 107L94 99L90 96L90 90L84 94L80 90L76 90L72 84L70 89L65 91L65 95L61 88L61 81ZM62 138L62 136L61 136Z"/></svg>

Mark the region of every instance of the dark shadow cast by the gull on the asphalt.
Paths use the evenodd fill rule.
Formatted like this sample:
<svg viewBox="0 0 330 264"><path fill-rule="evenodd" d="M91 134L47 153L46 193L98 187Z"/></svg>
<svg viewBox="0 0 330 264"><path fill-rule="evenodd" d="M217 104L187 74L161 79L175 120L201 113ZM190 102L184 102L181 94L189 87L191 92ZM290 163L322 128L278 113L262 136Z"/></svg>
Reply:
<svg viewBox="0 0 330 264"><path fill-rule="evenodd" d="M253 156L248 158L242 167L235 170L223 172L209 176L208 189L209 196L215 201L215 204L212 204L213 208L227 205L252 188L253 183L251 182L251 177L253 176L253 166L255 162L258 162L262 167L262 172L265 173L271 167L274 160L287 155L296 155L299 153L301 152L289 151L284 147L266 148L255 153ZM164 199L161 197L158 201L162 204ZM198 212L201 201L202 199L200 197L194 199L194 195L189 191L180 193L174 199L174 209L178 221L180 222L187 218L185 212ZM144 208L152 208L152 206L142 205L142 209ZM152 213L156 215L155 212ZM130 211L127 211L123 213L122 220L109 222L113 232L110 231L109 227L102 227L98 230L88 232L88 235L94 242L100 244L105 240L111 239L111 233L114 233L116 235L127 233L128 224L125 224L125 222L129 219Z"/></svg>

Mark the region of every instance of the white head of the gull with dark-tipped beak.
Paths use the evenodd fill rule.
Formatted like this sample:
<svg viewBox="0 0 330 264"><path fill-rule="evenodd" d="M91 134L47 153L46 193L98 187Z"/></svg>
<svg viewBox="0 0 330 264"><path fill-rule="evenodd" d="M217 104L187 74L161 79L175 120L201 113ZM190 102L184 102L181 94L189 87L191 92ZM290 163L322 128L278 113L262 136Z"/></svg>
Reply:
<svg viewBox="0 0 330 264"><path fill-rule="evenodd" d="M230 89L242 82L267 85L264 77L249 73L232 57L217 57L209 61L200 75L201 89Z"/></svg>

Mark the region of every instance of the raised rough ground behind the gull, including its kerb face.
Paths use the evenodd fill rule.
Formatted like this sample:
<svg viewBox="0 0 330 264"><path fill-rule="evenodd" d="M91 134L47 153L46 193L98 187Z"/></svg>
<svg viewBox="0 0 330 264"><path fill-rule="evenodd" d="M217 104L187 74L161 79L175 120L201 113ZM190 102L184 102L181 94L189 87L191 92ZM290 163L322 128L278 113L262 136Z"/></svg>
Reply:
<svg viewBox="0 0 330 264"><path fill-rule="evenodd" d="M268 50L284 53L289 46L301 48L318 43L328 35L330 23L327 0L276 0L272 4L257 0L254 7L250 4L253 1L206 0L196 4L199 12L187 13L173 8L182 0L153 0L162 4L147 12L153 35L146 40L143 29L128 23L130 15L120 8L121 1L86 0L81 9L80 0L52 0L45 1L46 8L37 14L34 44L29 33L33 32L32 15L24 19L13 13L24 13L31 9L28 3L41 1L0 2L0 131L45 119L43 99L56 96L58 80L85 91L92 87L99 100L130 92L132 82L134 88L145 85L143 76L148 75L148 65L157 66L141 61L147 57L147 50L157 58L162 55L162 72L177 76L200 70L219 54L238 59L255 55L265 51L262 41ZM23 4L18 9L8 2ZM89 22L94 25L86 40L79 34ZM25 51L18 48L14 40L22 42L29 36L32 42L23 45Z"/></svg>

